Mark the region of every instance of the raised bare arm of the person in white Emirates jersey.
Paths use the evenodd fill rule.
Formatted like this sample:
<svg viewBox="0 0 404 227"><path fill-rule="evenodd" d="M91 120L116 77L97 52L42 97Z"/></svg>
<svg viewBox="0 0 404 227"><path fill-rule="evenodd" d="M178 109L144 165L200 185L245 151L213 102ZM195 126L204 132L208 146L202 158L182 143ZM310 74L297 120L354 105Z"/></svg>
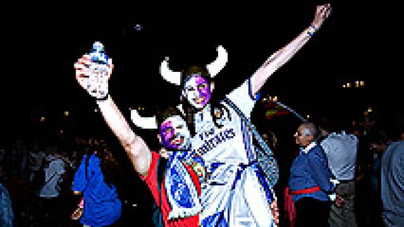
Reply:
<svg viewBox="0 0 404 227"><path fill-rule="evenodd" d="M294 38L290 43L272 54L267 61L251 76L251 92L257 94L261 87L268 80L270 75L279 67L286 63L302 47L310 37L323 24L330 13L330 4L317 6L316 15L312 25L305 29L300 35Z"/></svg>

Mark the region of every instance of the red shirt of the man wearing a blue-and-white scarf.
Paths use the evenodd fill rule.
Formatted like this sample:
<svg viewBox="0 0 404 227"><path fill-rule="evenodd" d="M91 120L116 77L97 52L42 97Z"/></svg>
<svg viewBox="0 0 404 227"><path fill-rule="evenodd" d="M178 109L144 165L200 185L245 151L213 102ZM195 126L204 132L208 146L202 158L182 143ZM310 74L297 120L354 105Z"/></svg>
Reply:
<svg viewBox="0 0 404 227"><path fill-rule="evenodd" d="M144 177L139 174L140 179L146 182L148 188L151 191L151 194L153 194L153 197L155 198L155 201L157 205L160 206L160 197L159 197L159 190L157 188L157 172L156 172L156 166L158 163L158 160L160 159L160 155L156 152L151 152L151 163L150 167L148 169L147 176ZM185 168L188 170L189 175L192 178L193 183L195 184L196 190L198 191L198 195L200 195L200 183L198 176L196 173L192 170L190 166L185 165ZM165 179L163 178L163 182L161 184L161 196L162 196L162 215L163 215L163 222L164 225L167 227L171 226L185 226L185 227L192 227L192 226L198 226L199 223L199 215L194 215L190 217L184 217L184 218L179 218L179 219L171 219L168 220L168 214L171 211L170 205L168 203L167 199L167 194L165 190Z"/></svg>

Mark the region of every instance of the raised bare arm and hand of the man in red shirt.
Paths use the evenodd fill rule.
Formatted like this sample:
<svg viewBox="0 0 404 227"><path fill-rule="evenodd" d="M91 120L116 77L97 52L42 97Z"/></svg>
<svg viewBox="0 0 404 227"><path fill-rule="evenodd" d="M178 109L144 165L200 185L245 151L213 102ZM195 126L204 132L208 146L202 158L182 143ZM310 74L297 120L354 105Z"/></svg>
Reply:
<svg viewBox="0 0 404 227"><path fill-rule="evenodd" d="M90 70L90 65L89 55L83 55L74 65L77 82L97 99L96 102L104 120L125 148L133 167L139 174L146 176L151 162L150 149L143 139L132 131L111 96L108 95L108 80L113 68L112 59L108 59L108 70L104 74L94 73Z"/></svg>

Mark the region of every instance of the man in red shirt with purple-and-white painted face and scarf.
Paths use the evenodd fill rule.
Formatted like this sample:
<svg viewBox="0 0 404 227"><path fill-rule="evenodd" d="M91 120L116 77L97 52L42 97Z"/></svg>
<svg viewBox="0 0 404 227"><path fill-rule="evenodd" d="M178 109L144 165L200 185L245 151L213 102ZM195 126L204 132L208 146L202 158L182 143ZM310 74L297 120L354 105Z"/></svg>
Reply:
<svg viewBox="0 0 404 227"><path fill-rule="evenodd" d="M134 169L153 194L160 210L154 219L155 224L197 226L201 210L199 172L203 163L190 153L190 133L185 121L175 113L169 113L164 120L161 119L158 137L162 145L171 150L168 161L158 153L150 151L143 139L129 127L108 95L112 59L107 55L100 58L104 64L94 67L91 56L83 55L75 64L76 80L96 99L105 121L124 146ZM99 63L99 60L97 62ZM99 70L102 67L105 68ZM148 128L157 129L155 118L145 120L135 112L132 114L132 120L140 127L146 127L145 124L148 124Z"/></svg>

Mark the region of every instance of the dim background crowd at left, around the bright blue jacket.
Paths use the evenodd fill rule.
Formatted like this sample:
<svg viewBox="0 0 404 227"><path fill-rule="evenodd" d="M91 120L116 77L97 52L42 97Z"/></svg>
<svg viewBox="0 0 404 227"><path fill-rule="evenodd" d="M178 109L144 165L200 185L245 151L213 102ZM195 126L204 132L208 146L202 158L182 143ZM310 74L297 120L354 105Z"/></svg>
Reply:
<svg viewBox="0 0 404 227"><path fill-rule="evenodd" d="M84 155L96 150L102 152L102 158L108 161L103 162L107 163L103 167L108 167L104 169L106 178L110 180L119 176L115 158L104 139L75 138L69 143L66 145L62 141L48 145L22 139L3 141L0 183L9 202L3 203L2 208L8 207L10 211L2 213L2 217L14 225L2 226L57 226L52 223L76 226L78 222L71 220L71 214L82 196L74 195L72 188ZM3 198L6 201L6 197Z"/></svg>

